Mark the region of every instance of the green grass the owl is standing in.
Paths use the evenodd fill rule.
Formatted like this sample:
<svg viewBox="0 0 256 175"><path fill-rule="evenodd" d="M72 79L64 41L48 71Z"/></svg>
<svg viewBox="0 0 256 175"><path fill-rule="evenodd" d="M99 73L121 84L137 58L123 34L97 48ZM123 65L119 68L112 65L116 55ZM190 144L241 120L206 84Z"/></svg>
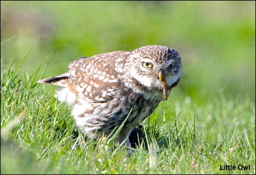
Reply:
<svg viewBox="0 0 256 175"><path fill-rule="evenodd" d="M54 99L53 88L42 90L33 81L39 69L31 76L20 74L19 66L1 69L1 174L255 173L255 104L249 98L228 101L220 93L202 106L177 94L180 100L161 103L142 122L148 149L142 144L127 157L125 147L85 140L69 106ZM220 170L230 164L250 170Z"/></svg>

